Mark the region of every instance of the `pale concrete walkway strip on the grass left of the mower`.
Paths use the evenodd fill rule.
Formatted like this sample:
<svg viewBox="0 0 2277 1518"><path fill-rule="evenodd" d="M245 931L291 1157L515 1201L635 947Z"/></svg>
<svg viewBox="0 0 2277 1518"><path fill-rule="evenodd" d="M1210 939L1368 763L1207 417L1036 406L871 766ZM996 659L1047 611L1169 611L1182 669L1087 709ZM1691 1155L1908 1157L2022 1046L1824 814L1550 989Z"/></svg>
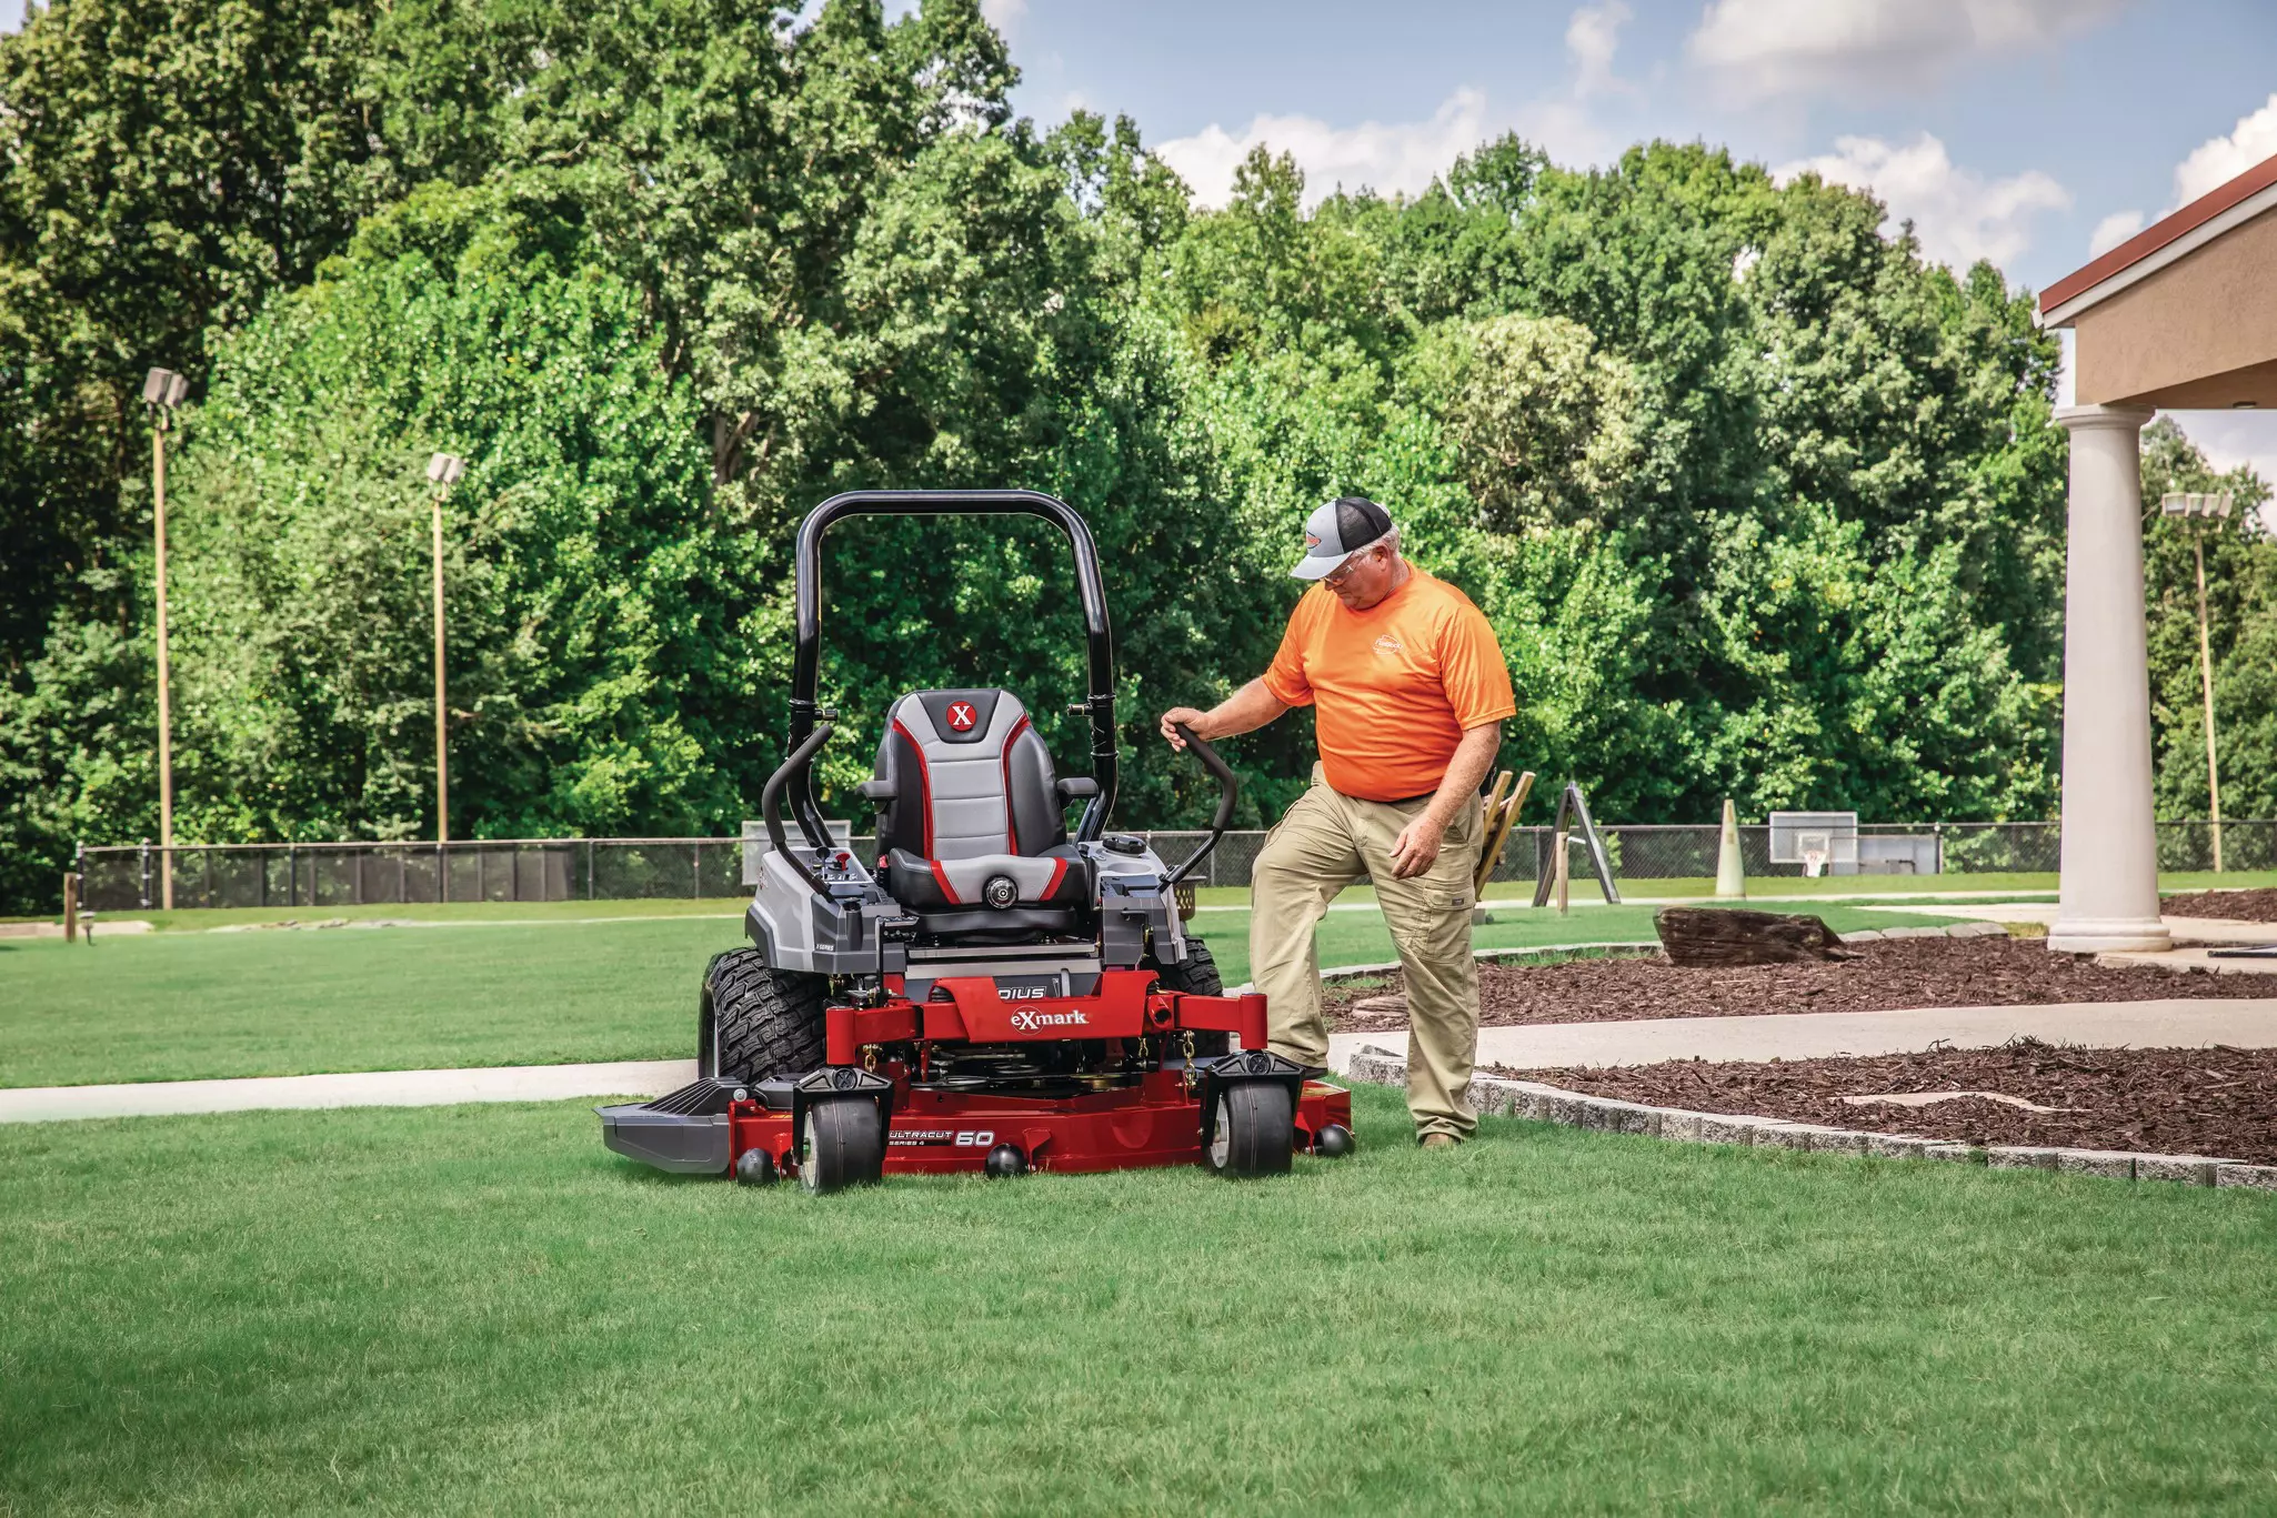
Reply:
<svg viewBox="0 0 2277 1518"><path fill-rule="evenodd" d="M490 1070L373 1070L250 1081L134 1081L130 1086L27 1086L0 1090L0 1122L150 1117L310 1106L446 1106L451 1102L562 1102L660 1097L697 1079L694 1061L615 1065L496 1065Z"/></svg>

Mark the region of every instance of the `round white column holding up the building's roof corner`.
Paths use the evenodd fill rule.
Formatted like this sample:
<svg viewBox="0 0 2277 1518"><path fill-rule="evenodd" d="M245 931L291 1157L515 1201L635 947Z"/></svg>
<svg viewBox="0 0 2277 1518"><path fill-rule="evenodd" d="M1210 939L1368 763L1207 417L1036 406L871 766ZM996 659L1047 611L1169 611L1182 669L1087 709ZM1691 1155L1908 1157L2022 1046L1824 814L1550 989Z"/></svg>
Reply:
<svg viewBox="0 0 2277 1518"><path fill-rule="evenodd" d="M2063 904L2047 947L2165 949L2143 649L2147 405L2065 405L2072 512L2063 578Z"/></svg>

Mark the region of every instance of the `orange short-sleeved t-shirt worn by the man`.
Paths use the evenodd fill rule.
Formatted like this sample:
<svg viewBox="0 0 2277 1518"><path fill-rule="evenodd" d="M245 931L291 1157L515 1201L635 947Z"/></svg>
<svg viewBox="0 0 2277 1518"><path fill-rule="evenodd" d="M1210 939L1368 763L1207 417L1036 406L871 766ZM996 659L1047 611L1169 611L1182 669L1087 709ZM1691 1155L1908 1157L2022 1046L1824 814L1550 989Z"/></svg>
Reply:
<svg viewBox="0 0 2277 1518"><path fill-rule="evenodd" d="M1364 612L1327 585L1307 589L1266 669L1275 701L1318 708L1327 783L1359 801L1439 790L1462 731L1519 710L1485 612L1407 569L1407 583Z"/></svg>

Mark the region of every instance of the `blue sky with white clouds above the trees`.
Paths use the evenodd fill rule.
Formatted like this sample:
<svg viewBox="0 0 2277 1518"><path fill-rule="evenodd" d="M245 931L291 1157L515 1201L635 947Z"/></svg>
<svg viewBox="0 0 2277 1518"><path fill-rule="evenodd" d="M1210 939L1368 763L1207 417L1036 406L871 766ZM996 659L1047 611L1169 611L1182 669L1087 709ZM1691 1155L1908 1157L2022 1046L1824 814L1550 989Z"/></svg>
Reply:
<svg viewBox="0 0 2277 1518"><path fill-rule="evenodd" d="M1202 198L1255 143L1414 191L1516 130L1562 164L1728 146L1869 187L1924 250L2040 289L2277 155L2272 0L984 0L1059 121L1127 112ZM2186 414L2277 478L2277 414Z"/></svg>

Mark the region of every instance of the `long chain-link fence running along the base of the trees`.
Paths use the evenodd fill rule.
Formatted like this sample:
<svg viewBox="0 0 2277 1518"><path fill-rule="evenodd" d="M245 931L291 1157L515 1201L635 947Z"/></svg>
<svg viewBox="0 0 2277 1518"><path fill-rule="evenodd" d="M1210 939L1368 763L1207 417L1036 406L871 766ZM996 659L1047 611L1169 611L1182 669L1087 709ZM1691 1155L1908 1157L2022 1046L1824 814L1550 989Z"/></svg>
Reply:
<svg viewBox="0 0 2277 1518"><path fill-rule="evenodd" d="M1715 878L1719 828L1601 826L1617 881ZM2159 869L2213 869L2211 822L2161 822ZM1209 833L1148 833L1170 865ZM1195 872L1200 885L1248 885L1266 833L1227 833ZM2220 824L2225 869L2277 869L2277 822ZM874 863L877 842L852 849ZM173 904L216 906L389 906L428 901L628 901L653 897L738 899L745 894L740 838L510 838L451 844L191 844L173 851ZM1537 881L1551 869L1551 828L1514 828L1494 881ZM2054 874L2063 853L2056 822L1860 824L1858 874ZM1879 858L1876 858L1879 856ZM1772 831L1740 828L1749 878L1803 874L1772 863ZM80 899L96 910L148 910L164 901L166 867L153 844L80 851ZM1580 858L1573 876L1587 878Z"/></svg>

